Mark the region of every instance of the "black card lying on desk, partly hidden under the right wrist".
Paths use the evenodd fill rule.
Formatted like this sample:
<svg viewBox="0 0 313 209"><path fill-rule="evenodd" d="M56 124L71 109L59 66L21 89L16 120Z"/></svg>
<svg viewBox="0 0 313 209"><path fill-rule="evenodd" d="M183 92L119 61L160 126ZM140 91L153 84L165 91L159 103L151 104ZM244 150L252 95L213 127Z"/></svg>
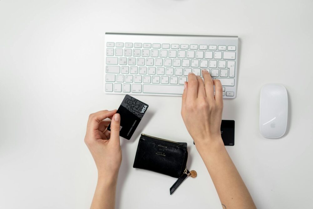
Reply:
<svg viewBox="0 0 313 209"><path fill-rule="evenodd" d="M233 146L235 144L235 121L222 120L221 136L225 146ZM193 142L193 144L195 144Z"/></svg>

